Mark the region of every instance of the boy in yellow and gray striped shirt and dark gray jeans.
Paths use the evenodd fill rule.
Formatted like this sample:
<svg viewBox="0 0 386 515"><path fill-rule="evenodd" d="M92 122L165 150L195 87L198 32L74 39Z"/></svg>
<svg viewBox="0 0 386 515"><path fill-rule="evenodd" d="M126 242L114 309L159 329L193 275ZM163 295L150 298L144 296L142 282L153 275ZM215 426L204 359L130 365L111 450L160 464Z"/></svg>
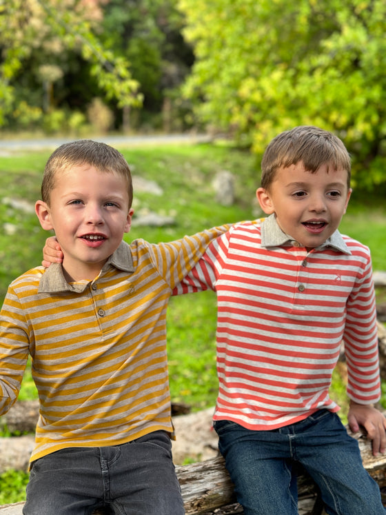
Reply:
<svg viewBox="0 0 386 515"><path fill-rule="evenodd" d="M36 212L63 264L15 279L0 314L0 414L17 400L29 354L39 392L24 514L184 513L171 454L167 303L226 227L128 245L131 206L128 163L109 145L65 143L48 159Z"/></svg>

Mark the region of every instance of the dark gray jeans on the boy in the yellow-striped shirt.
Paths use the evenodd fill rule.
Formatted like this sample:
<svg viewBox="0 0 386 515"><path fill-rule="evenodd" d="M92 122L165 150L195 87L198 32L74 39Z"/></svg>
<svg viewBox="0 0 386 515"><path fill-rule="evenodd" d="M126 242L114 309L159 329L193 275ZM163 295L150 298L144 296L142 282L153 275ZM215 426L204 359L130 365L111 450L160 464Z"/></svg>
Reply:
<svg viewBox="0 0 386 515"><path fill-rule="evenodd" d="M170 436L156 431L114 447L70 447L34 461L26 515L183 515Z"/></svg>

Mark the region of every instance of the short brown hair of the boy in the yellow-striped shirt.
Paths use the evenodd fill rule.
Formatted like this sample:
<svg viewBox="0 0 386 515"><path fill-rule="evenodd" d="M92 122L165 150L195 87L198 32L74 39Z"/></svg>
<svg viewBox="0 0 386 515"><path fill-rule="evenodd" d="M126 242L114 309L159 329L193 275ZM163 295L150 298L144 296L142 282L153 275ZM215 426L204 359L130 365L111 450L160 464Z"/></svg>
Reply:
<svg viewBox="0 0 386 515"><path fill-rule="evenodd" d="M50 205L50 194L55 187L58 172L84 164L92 165L100 172L121 175L128 185L129 208L131 208L133 190L128 162L121 152L118 152L115 148L91 139L79 139L70 143L63 143L52 152L45 164L41 183L41 199Z"/></svg>

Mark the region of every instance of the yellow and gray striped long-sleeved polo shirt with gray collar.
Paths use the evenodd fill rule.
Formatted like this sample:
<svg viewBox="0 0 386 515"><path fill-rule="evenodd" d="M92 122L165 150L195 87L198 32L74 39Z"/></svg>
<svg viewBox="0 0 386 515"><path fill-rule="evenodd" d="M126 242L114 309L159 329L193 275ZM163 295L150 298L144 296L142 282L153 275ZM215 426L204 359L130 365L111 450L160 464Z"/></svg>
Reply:
<svg viewBox="0 0 386 515"><path fill-rule="evenodd" d="M11 283L0 315L0 414L16 401L30 354L41 406L31 461L172 432L167 303L225 230L122 242L94 281L68 284L52 264Z"/></svg>

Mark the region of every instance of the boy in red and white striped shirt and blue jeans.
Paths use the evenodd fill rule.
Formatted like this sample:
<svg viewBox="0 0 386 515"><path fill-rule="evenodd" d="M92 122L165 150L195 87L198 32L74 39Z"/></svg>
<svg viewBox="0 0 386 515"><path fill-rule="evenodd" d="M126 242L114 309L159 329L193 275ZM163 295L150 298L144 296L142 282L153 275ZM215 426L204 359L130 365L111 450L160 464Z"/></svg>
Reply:
<svg viewBox="0 0 386 515"><path fill-rule="evenodd" d="M384 514L329 396L345 344L349 425L385 452L369 249L338 231L351 194L349 154L334 134L301 126L263 156L263 221L233 225L180 287L218 300L214 427L245 515L298 513L296 467L325 511Z"/></svg>

